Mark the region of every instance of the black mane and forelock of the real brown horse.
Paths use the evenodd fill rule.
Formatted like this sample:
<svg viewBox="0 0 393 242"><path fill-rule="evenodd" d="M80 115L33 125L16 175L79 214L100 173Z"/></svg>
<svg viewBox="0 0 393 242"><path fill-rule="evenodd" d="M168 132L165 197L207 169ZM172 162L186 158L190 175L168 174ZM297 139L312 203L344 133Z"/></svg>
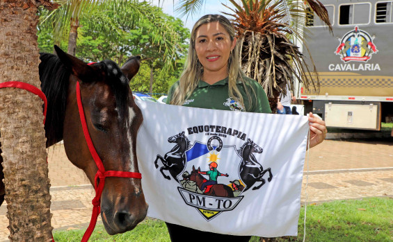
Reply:
<svg viewBox="0 0 393 242"><path fill-rule="evenodd" d="M54 144L63 139L63 122L65 105L67 103L67 87L71 70L65 67L57 55L40 53L40 80L42 92L47 96L48 110L45 122L47 144ZM115 62L104 60L95 66L102 69L105 82L115 95L118 119L121 123L128 123L128 80Z"/></svg>

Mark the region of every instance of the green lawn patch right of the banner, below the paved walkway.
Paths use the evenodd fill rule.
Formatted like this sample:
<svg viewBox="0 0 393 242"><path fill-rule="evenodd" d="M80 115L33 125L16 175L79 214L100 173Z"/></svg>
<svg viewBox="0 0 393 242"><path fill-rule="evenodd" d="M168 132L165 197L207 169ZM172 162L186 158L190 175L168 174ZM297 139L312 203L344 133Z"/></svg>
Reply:
<svg viewBox="0 0 393 242"><path fill-rule="evenodd" d="M303 241L303 219L304 207L300 212L298 236L270 241ZM253 239L259 241L259 238ZM393 199L367 198L308 205L305 241L393 241Z"/></svg>

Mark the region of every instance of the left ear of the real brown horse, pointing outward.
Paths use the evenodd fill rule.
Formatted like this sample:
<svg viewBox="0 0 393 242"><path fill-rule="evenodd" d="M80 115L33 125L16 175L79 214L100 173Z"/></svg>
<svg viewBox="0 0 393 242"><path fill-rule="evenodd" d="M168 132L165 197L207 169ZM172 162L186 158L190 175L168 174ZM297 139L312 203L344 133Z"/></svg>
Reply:
<svg viewBox="0 0 393 242"><path fill-rule="evenodd" d="M88 64L79 60L78 58L65 53L58 46L54 46L56 54L61 62L72 71L72 74L77 76L80 80L86 83L90 83L94 80L98 80L99 76L97 75L97 71L90 67Z"/></svg>

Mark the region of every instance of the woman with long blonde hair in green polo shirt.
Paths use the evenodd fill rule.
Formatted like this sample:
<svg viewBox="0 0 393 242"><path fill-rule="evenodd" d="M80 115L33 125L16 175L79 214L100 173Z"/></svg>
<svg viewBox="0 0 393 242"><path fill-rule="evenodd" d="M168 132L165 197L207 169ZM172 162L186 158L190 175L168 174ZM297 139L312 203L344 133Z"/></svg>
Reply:
<svg viewBox="0 0 393 242"><path fill-rule="evenodd" d="M186 66L169 91L167 103L217 110L271 113L264 89L239 64L234 28L221 15L205 15L193 26ZM310 147L325 139L325 122L310 113ZM249 241L166 223L171 241ZM186 239L184 239L186 234Z"/></svg>

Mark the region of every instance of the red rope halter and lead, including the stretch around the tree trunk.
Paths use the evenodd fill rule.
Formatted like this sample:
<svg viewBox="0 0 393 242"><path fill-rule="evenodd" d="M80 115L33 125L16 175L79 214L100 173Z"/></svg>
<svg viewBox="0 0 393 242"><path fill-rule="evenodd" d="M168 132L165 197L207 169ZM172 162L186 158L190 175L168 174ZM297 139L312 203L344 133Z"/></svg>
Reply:
<svg viewBox="0 0 393 242"><path fill-rule="evenodd" d="M17 81L0 83L0 88L3 88L3 87L15 87L15 88L19 88L19 89L25 89L35 95L40 96L40 98L45 103L44 116L46 118L47 97L40 89L38 89L37 87L34 87L33 85L30 85L27 83L21 83L21 82L17 82ZM99 159L99 155L97 154L97 151L94 148L93 141L91 141L91 138L90 138L90 135L88 132L88 126L86 124L86 118L85 118L85 114L83 112L83 105L82 105L82 101L81 101L81 89L79 87L78 82L77 82L77 103L78 103L79 116L81 118L81 124L82 124L82 128L83 128L83 135L85 135L85 139L88 144L88 148L89 148L90 153L95 161L95 164L97 164L97 168L98 168L98 171L95 174L95 184L94 184L95 198L93 198L93 201L92 201L93 214L91 215L90 225L89 225L88 229L86 230L85 234L83 234L83 238L82 238L82 242L86 242L90 238L90 235L93 233L93 230L94 230L95 225L97 223L97 217L99 215L99 210L100 210L99 202L101 199L102 190L104 189L105 178L118 177L118 178L141 179L142 175L141 175L141 173L129 172L129 171L105 171L104 165L102 164L101 159ZM44 123L45 123L45 118L44 118ZM52 241L54 241L53 237L52 237Z"/></svg>

